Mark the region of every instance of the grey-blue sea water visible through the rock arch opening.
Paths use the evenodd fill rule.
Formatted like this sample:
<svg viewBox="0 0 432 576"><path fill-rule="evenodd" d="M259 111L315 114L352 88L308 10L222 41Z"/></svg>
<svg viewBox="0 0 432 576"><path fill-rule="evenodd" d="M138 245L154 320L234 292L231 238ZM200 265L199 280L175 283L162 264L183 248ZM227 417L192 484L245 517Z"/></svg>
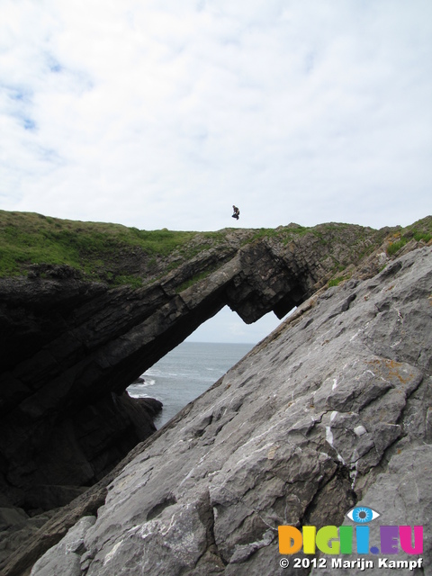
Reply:
<svg viewBox="0 0 432 576"><path fill-rule="evenodd" d="M156 398L163 403L164 408L155 419L160 428L217 382L253 346L183 342L142 374L144 382L131 384L128 392L133 398Z"/></svg>

